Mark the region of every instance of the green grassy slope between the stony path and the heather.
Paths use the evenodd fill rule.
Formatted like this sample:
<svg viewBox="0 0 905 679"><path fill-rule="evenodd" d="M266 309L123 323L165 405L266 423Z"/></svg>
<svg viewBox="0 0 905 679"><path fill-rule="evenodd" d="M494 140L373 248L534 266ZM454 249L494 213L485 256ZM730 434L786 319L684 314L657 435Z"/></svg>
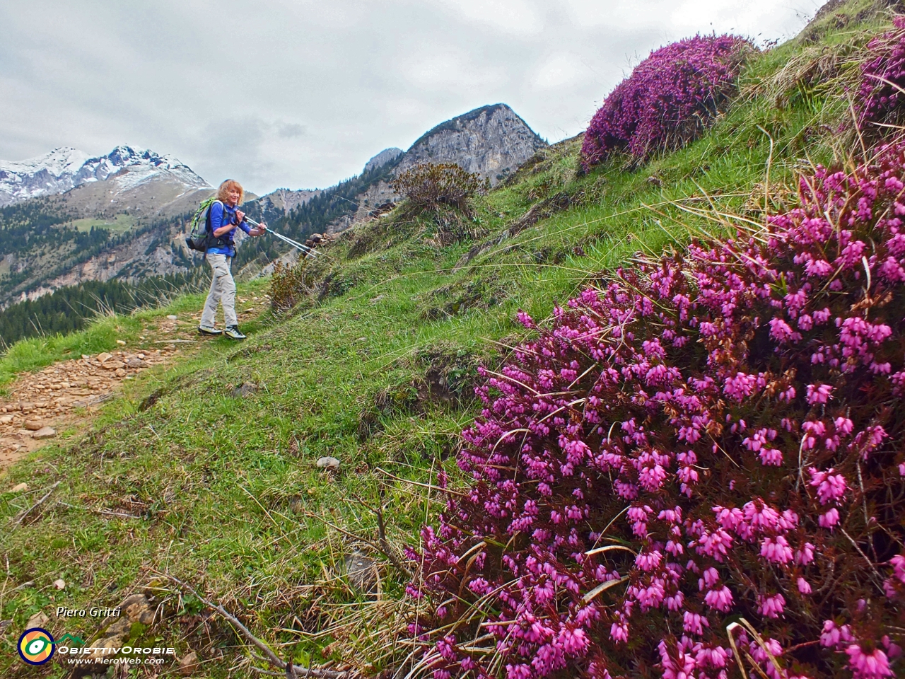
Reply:
<svg viewBox="0 0 905 679"><path fill-rule="evenodd" d="M0 491L22 481L33 489L0 494L0 619L12 620L0 628L0 674L25 675L13 649L35 612L116 606L150 586L164 620L134 629L136 638L195 650L205 676L252 675L231 628L180 598L167 573L301 664L333 660L370 673L400 663L408 647L399 620L414 607L401 601L405 575L368 544L379 541L375 510L382 503L393 550L417 540L440 509L429 486L441 469L455 483L457 433L476 415L475 367L498 365L524 336L513 322L519 308L543 319L640 249L718 232L701 208L761 219L765 201L787 196L796 166L832 161L847 104L824 76L795 74L806 76L810 55L824 50L836 55L834 77L850 77L847 54L883 22L862 19L755 56L732 110L680 152L636 168L614 158L578 176L580 141L569 140L478 198L460 242L444 244L434 221L398 213L343 234L309 264L310 295L291 314L259 320L239 348L207 343L144 374L106 406L95 433L0 476ZM528 224L528 215L541 218ZM81 351L90 337L53 350ZM29 356L15 348L0 373L36 365ZM242 383L259 388L234 395ZM338 458L337 473L318 467L323 456ZM356 548L378 565L373 596L345 574ZM51 586L58 578L68 583L61 592ZM52 617L51 626L86 638L97 630L90 620Z"/></svg>

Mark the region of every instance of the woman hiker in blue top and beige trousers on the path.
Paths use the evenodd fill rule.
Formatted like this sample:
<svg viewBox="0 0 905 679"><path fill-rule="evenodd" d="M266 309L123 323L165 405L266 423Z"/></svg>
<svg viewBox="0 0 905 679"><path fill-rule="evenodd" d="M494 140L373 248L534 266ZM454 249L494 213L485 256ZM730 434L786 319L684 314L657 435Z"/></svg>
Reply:
<svg viewBox="0 0 905 679"><path fill-rule="evenodd" d="M207 293L205 311L201 314L201 325L198 332L202 335L224 334L230 339L245 339L239 331L239 321L235 317L235 282L230 264L235 256L235 229L242 229L249 235L265 233L264 226L251 228L243 221L245 213L236 209L242 204L244 191L242 185L233 179L227 179L217 190L217 199L208 213L207 229L213 232L213 244L207 248L205 259L214 270L211 290ZM217 304L223 304L225 330L214 328L214 315Z"/></svg>

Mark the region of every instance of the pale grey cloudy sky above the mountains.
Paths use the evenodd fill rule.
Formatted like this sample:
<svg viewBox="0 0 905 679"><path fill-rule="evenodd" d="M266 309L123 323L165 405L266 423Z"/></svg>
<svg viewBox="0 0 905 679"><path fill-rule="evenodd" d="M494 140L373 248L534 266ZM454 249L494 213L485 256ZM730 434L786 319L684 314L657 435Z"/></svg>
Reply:
<svg viewBox="0 0 905 679"><path fill-rule="evenodd" d="M823 0L0 0L0 158L128 143L255 193L329 186L503 101L550 142L652 49Z"/></svg>

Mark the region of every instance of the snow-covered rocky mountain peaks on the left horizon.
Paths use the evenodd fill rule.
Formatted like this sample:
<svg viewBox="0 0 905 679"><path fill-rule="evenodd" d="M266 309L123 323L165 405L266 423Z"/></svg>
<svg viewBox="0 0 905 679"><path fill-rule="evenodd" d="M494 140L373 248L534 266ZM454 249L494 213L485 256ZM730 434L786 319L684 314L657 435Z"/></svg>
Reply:
<svg viewBox="0 0 905 679"><path fill-rule="evenodd" d="M111 177L118 179L117 192L161 178L185 186L186 190L210 186L178 159L146 148L118 146L106 156L91 158L76 148L63 147L20 162L0 160L0 206L62 194Z"/></svg>

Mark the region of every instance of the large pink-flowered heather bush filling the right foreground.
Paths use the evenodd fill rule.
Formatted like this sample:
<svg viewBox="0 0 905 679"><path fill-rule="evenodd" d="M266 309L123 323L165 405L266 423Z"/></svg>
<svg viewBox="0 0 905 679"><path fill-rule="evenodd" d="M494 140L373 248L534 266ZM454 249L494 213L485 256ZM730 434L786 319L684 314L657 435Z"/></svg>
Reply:
<svg viewBox="0 0 905 679"><path fill-rule="evenodd" d="M434 677L905 672L901 215L905 143L818 168L486 371L472 485L409 552Z"/></svg>

